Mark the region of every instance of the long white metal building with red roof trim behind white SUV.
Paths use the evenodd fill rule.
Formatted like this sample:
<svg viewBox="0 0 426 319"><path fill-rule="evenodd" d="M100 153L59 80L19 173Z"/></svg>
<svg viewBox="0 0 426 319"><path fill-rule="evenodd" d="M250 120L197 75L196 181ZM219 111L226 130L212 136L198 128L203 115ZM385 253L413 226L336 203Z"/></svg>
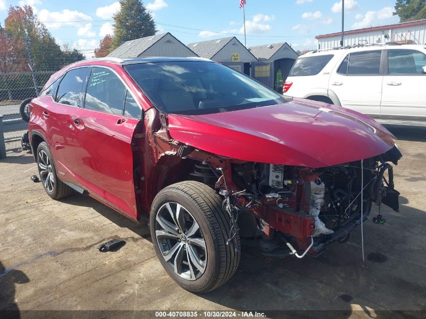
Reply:
<svg viewBox="0 0 426 319"><path fill-rule="evenodd" d="M317 35L319 49L340 47L342 33ZM426 44L426 19L345 31L343 46L397 42L401 44Z"/></svg>

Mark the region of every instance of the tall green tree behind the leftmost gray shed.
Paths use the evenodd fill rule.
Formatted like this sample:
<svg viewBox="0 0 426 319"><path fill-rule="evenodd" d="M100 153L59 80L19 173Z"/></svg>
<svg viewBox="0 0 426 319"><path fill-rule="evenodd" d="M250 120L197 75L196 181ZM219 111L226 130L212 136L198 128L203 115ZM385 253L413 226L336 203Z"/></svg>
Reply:
<svg viewBox="0 0 426 319"><path fill-rule="evenodd" d="M126 41L154 35L155 22L141 0L120 0L120 11L114 15L112 48Z"/></svg>

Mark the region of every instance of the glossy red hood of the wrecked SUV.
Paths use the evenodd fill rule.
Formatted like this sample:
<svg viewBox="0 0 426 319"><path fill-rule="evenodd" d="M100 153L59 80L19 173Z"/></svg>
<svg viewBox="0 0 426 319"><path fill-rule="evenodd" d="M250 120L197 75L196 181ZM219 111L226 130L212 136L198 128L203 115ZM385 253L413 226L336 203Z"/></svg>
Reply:
<svg viewBox="0 0 426 319"><path fill-rule="evenodd" d="M173 139L250 162L319 168L385 153L395 137L366 115L292 102L205 115L169 114Z"/></svg>

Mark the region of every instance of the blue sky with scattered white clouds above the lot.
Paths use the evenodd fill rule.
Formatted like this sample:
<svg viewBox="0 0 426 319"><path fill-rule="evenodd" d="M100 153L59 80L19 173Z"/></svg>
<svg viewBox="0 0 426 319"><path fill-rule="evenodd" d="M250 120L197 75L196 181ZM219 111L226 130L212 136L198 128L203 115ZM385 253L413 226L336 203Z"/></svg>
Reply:
<svg viewBox="0 0 426 319"><path fill-rule="evenodd" d="M87 56L112 28L114 0L0 0L0 23L9 6L32 6L59 43ZM239 0L145 0L159 32L185 44L235 35L243 42ZM395 0L345 0L345 30L398 22ZM288 42L294 49L315 48L315 36L341 30L340 0L247 0L247 45ZM244 43L244 42L243 42Z"/></svg>

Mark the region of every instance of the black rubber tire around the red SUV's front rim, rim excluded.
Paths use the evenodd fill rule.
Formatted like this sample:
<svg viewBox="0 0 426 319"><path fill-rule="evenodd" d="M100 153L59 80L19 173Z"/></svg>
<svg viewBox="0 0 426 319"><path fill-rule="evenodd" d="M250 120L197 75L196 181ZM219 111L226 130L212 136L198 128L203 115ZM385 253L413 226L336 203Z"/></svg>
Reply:
<svg viewBox="0 0 426 319"><path fill-rule="evenodd" d="M166 203L177 203L184 207L200 226L205 241L206 262L204 273L201 274L200 272L201 275L196 280L181 278L163 257L159 244L161 238L158 239L156 236L156 227L159 226L156 218L160 209ZM160 263L169 276L186 290L197 293L213 290L231 278L238 267L240 259L239 234L237 233L230 244L226 245L230 232L230 218L223 212L220 196L206 184L197 181L182 181L162 189L151 206L150 230L154 249ZM187 240L190 244L191 239L188 237ZM178 241L183 242L184 239ZM237 251L236 247L238 248Z"/></svg>

